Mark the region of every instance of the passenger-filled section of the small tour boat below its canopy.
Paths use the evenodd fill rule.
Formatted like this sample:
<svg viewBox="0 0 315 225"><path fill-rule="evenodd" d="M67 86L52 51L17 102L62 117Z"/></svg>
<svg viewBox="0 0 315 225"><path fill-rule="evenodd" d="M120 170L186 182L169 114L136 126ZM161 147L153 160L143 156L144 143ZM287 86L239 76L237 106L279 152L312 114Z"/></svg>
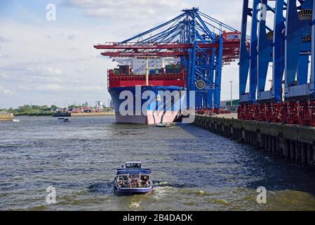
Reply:
<svg viewBox="0 0 315 225"><path fill-rule="evenodd" d="M116 176L116 185L119 188L148 188L152 186L149 175L121 174Z"/></svg>

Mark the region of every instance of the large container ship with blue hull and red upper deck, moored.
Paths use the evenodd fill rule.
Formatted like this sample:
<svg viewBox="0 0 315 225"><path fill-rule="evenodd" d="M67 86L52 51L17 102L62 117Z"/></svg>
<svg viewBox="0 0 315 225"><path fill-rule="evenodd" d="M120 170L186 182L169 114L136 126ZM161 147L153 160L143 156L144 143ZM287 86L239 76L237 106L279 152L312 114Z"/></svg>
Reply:
<svg viewBox="0 0 315 225"><path fill-rule="evenodd" d="M123 60L125 65L107 71L116 122L159 124L180 118L186 94L186 72L179 63L166 65L166 62L164 59L133 58L128 65ZM170 94L174 92L178 92L180 98L172 98ZM145 97L148 93L150 96Z"/></svg>

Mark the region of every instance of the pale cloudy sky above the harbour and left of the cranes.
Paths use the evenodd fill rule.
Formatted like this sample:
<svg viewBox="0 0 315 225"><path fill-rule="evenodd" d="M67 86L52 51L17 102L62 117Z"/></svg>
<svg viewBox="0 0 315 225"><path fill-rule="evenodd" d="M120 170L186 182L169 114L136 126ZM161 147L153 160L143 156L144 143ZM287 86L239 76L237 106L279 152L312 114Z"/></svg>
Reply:
<svg viewBox="0 0 315 225"><path fill-rule="evenodd" d="M55 20L46 18L48 4ZM107 69L116 63L93 45L133 37L193 6L241 27L242 0L0 0L0 108L107 104ZM230 80L238 98L238 77L237 63L223 68L222 100Z"/></svg>

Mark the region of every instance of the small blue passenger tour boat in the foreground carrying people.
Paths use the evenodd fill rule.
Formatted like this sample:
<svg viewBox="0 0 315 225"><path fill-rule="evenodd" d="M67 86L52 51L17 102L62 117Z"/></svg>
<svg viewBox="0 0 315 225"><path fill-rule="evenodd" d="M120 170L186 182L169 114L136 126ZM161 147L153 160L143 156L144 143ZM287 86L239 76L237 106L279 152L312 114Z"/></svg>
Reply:
<svg viewBox="0 0 315 225"><path fill-rule="evenodd" d="M151 169L141 167L141 162L126 162L126 167L117 169L114 179L116 195L147 194L153 191Z"/></svg>

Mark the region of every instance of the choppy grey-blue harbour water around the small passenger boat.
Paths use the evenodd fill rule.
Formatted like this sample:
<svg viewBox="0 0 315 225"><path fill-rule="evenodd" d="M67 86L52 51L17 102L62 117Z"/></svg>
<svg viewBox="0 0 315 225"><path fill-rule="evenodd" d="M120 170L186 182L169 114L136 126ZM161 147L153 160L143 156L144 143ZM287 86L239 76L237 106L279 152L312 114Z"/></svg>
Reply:
<svg viewBox="0 0 315 225"><path fill-rule="evenodd" d="M19 119L0 122L0 210L315 210L314 171L191 124ZM115 169L126 160L152 168L153 193L114 195ZM259 186L267 204L256 202Z"/></svg>

